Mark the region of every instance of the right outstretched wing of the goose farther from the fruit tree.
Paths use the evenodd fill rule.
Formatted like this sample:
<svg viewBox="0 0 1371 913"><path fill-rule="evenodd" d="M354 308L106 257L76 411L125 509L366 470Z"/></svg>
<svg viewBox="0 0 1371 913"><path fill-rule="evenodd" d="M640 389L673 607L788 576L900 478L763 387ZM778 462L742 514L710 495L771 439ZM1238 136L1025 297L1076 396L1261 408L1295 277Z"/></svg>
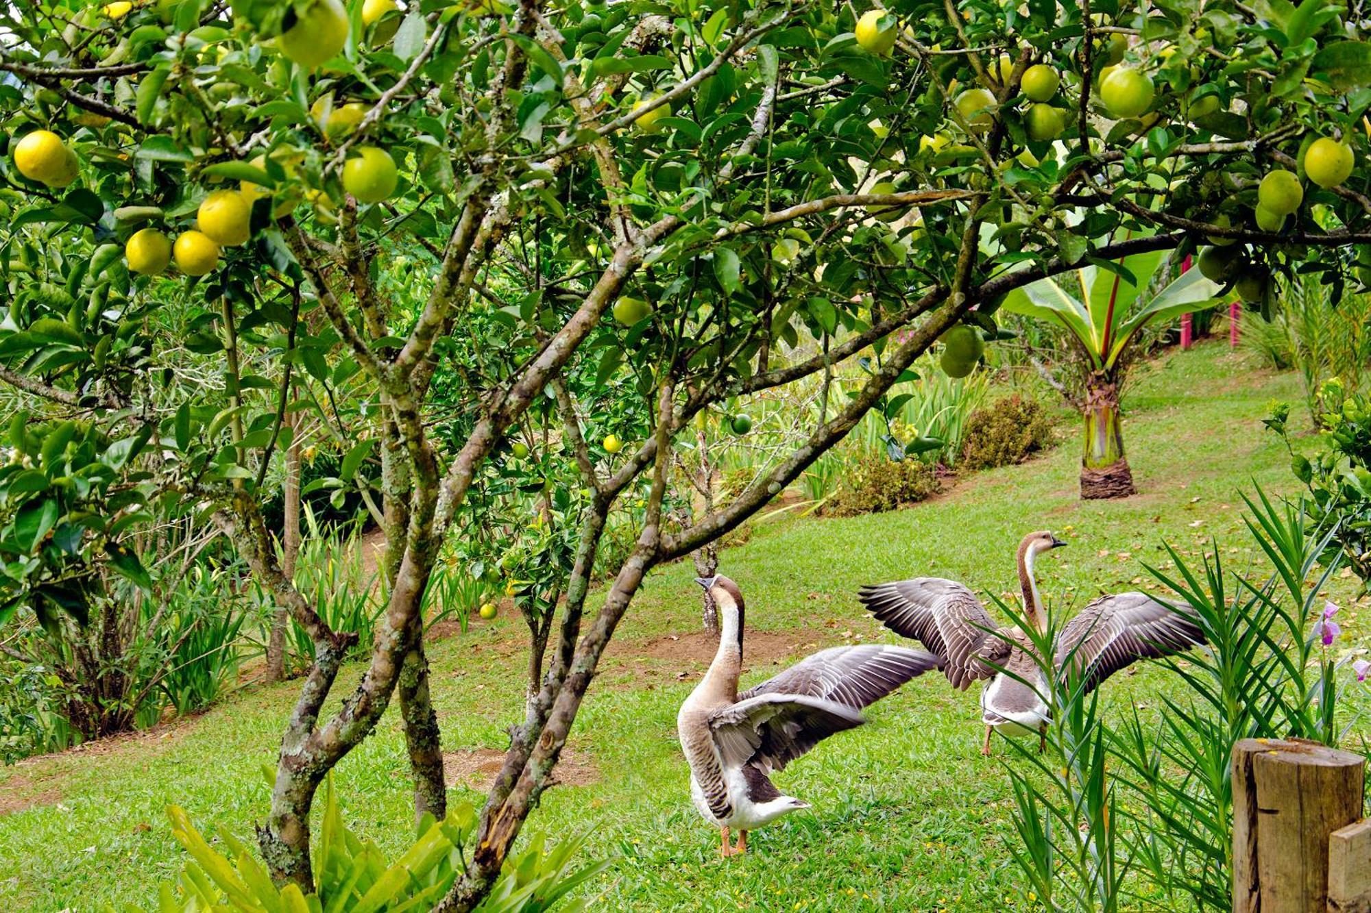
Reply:
<svg viewBox="0 0 1371 913"><path fill-rule="evenodd" d="M1142 592L1101 596L1057 637L1057 666L1072 664L1086 691L1138 659L1169 657L1205 642L1189 606L1168 606Z"/></svg>

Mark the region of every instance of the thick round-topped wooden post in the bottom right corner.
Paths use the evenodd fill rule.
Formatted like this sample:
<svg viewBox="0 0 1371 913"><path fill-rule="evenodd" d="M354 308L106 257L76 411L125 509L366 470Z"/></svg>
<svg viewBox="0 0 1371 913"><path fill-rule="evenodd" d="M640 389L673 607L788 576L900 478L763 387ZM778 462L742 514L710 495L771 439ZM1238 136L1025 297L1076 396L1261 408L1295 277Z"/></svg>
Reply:
<svg viewBox="0 0 1371 913"><path fill-rule="evenodd" d="M1302 739L1233 748L1233 913L1327 913L1328 842L1361 817L1366 758Z"/></svg>

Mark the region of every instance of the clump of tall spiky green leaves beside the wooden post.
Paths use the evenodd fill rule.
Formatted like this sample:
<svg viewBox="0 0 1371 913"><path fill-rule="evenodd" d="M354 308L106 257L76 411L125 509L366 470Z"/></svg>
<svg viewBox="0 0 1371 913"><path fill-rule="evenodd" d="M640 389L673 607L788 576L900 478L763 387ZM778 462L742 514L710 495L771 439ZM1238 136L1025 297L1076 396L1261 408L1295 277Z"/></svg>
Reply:
<svg viewBox="0 0 1371 913"><path fill-rule="evenodd" d="M1053 725L1047 753L1020 748L1010 768L1015 861L1046 909L1113 910L1126 897L1164 909L1231 905L1234 744L1304 738L1335 746L1339 677L1331 644L1338 609L1318 594L1333 531L1307 524L1302 504L1245 498L1246 533L1261 561L1237 573L1213 547L1193 565L1167 547L1172 573L1149 573L1189 605L1206 646L1161 659L1185 685L1156 718L1137 707L1119 725L1098 714L1073 672L1045 666ZM1052 637L1039 646L1042 655ZM1065 666L1073 664L1065 662ZM1035 746L1034 746L1035 747ZM1105 775L1108 769L1109 775Z"/></svg>

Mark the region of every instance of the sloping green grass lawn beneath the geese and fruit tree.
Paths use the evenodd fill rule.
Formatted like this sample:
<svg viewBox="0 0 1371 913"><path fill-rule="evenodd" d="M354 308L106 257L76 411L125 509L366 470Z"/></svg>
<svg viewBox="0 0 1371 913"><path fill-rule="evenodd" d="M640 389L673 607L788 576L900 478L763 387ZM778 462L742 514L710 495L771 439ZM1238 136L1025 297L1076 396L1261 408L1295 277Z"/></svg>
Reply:
<svg viewBox="0 0 1371 913"><path fill-rule="evenodd" d="M975 476L910 510L762 524L724 552L721 570L747 596L750 629L773 632L768 650L798 658L883 637L857 603L862 583L938 574L1008 594L1015 546L1030 529L1069 541L1039 570L1058 609L1148 583L1142 563L1164 559L1163 541L1198 557L1213 537L1226 561L1246 566L1254 557L1239 491L1253 480L1293 491L1287 455L1260 424L1272 399L1301 402L1293 374L1257 370L1217 343L1174 354L1139 366L1127 391L1135 498L1078 500L1072 422L1039 459ZM1004 744L995 758L979 755L976 692L954 692L939 674L910 683L872 709L869 725L777 775L813 809L755 833L747 857L721 862L717 832L691 807L675 735L676 709L703 669L670 640L699 624L692 576L688 562L665 568L635 600L573 733L579 784L553 788L529 821L558 838L590 832L588 857L613 861L595 909L1032 909L1006 850L1013 755ZM1334 591L1345 598L1350 581ZM1368 609L1344 605L1342 647L1366 646L1357 616ZM522 633L506 613L433 644L447 750L506 746L524 688ZM749 665L746 681L755 681L781 664ZM1104 713L1146 707L1157 688L1174 687L1158 668L1121 674L1105 685ZM182 864L163 814L170 802L202 827L250 836L267 807L260 766L273 761L295 690L244 690L195 720L0 769L0 809L16 809L0 816L0 909L147 905ZM345 817L388 851L410 839L406 775L395 714L337 770ZM454 798L481 795L458 787Z"/></svg>

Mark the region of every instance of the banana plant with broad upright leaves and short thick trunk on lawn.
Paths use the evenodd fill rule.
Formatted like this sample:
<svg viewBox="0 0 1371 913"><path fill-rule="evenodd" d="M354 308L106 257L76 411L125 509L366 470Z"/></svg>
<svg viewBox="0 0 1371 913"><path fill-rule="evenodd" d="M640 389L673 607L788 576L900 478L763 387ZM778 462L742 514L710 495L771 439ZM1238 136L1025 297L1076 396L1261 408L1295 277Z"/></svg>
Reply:
<svg viewBox="0 0 1371 913"><path fill-rule="evenodd" d="M1084 359L1082 498L1127 498L1137 491L1123 452L1119 404L1128 348L1148 324L1211 307L1223 289L1200 270L1187 270L1142 300L1161 262L1160 251L1095 262L1076 270L1084 300L1045 278L1015 289L1001 306L1012 314L1060 324Z"/></svg>

